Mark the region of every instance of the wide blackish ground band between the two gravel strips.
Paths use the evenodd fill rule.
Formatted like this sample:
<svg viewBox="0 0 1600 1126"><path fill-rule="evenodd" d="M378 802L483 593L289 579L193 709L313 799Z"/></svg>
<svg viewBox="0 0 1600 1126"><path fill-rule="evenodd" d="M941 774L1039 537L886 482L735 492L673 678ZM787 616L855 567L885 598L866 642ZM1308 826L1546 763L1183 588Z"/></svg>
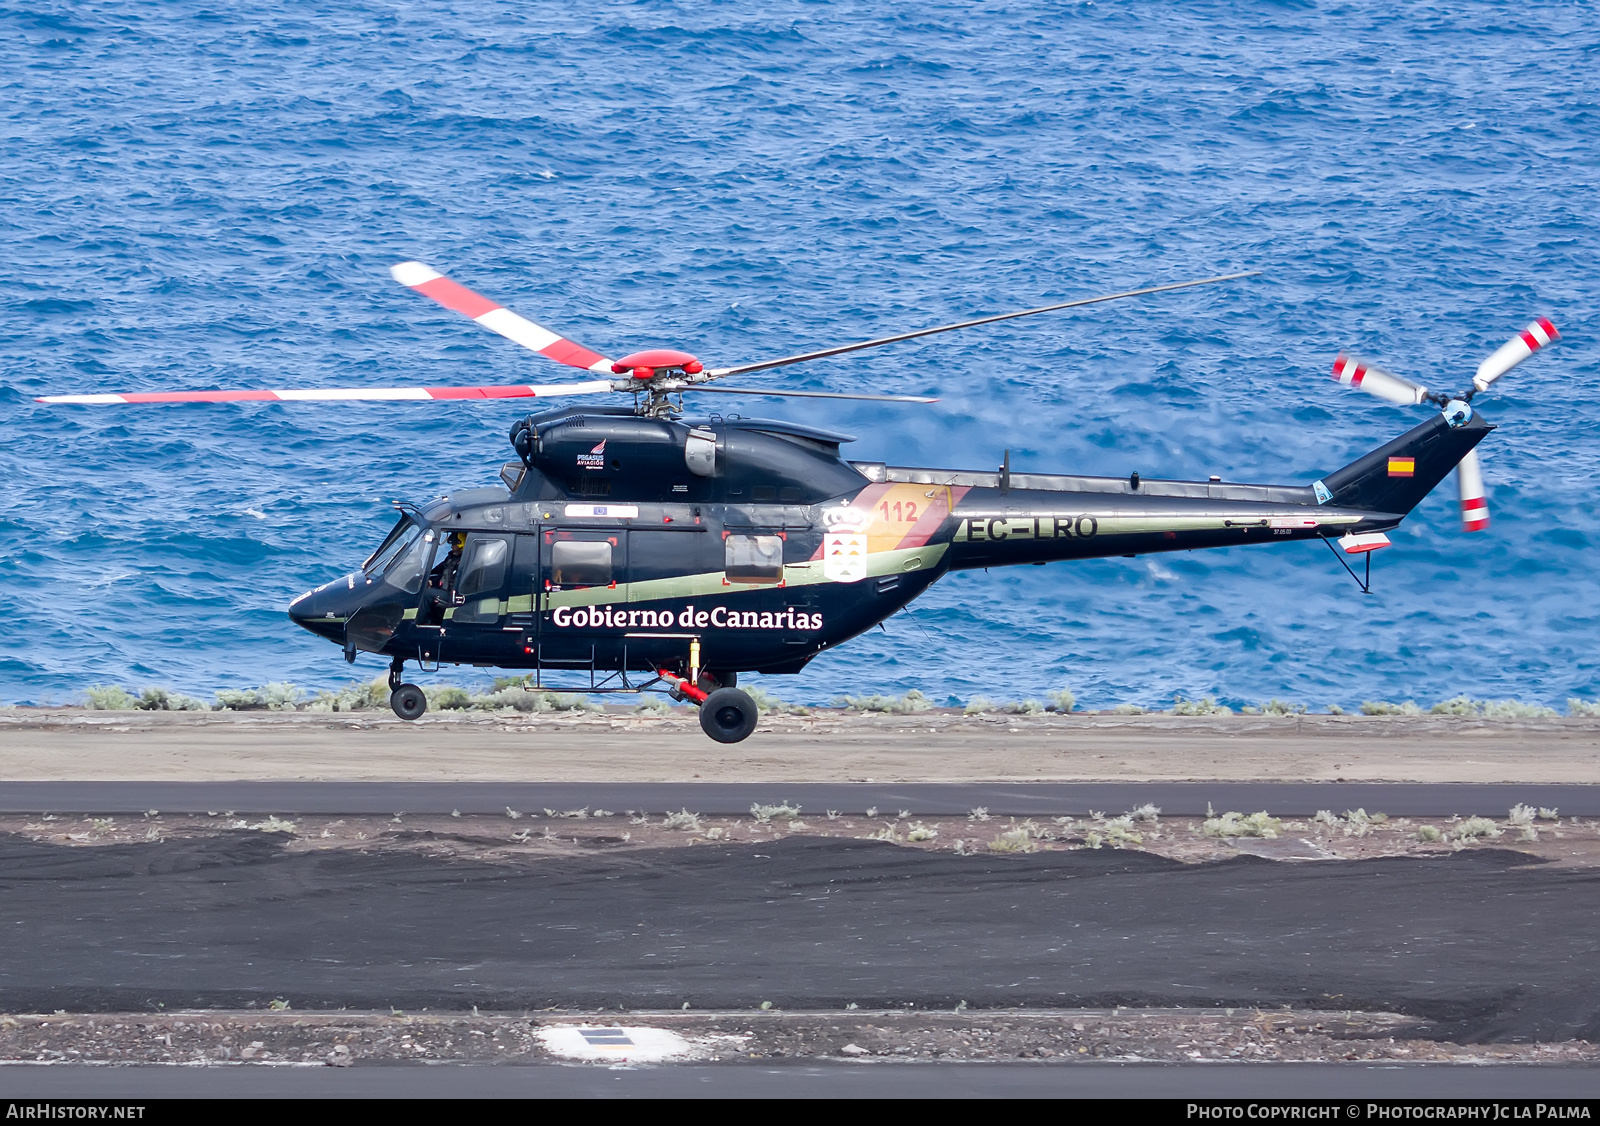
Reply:
<svg viewBox="0 0 1600 1126"><path fill-rule="evenodd" d="M544 856L0 838L0 1011L1298 1006L1600 1036L1600 872L882 841Z"/></svg>

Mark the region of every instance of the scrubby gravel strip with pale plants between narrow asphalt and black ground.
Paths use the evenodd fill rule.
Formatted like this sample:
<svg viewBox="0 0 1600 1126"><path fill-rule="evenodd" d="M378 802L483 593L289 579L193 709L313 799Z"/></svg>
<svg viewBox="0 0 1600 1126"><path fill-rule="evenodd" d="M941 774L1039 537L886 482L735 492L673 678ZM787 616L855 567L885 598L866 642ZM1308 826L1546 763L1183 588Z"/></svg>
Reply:
<svg viewBox="0 0 1600 1126"><path fill-rule="evenodd" d="M781 789L781 787L779 787ZM1099 817L906 817L880 809L875 817L813 814L766 806L747 817L709 817L694 811L642 813L605 809L507 809L502 817L144 817L0 816L0 833L35 841L91 846L210 837L218 832L282 833L291 851L410 849L437 857L462 857L509 865L539 857L594 851L691 848L707 843L762 843L787 837L882 840L906 848L957 852L1037 852L1083 848L1126 848L1186 864L1219 860L1240 852L1277 860L1338 860L1378 856L1440 856L1470 848L1514 848L1547 862L1600 867L1600 821L1539 817L1523 809L1512 819L1386 817L1382 811L1328 811L1323 821L1248 819L1210 825L1200 817L1162 817L1155 811ZM1222 813L1222 811L1219 811ZM1254 811L1232 811L1254 813ZM1250 833L1229 833L1243 827Z"/></svg>

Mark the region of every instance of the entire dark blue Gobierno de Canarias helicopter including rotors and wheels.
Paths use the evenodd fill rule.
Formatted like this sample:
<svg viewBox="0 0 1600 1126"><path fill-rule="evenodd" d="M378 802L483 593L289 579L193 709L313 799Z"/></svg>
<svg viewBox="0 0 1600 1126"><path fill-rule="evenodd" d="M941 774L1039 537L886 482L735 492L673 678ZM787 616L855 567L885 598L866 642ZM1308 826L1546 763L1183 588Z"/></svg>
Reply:
<svg viewBox="0 0 1600 1126"><path fill-rule="evenodd" d="M384 387L50 395L42 403L414 401L626 395L632 405L565 406L510 427L502 488L459 489L398 520L360 568L296 597L288 616L339 645L347 662L389 657L390 707L427 710L405 665L528 670L589 693L664 691L699 709L725 744L758 709L739 673L797 673L907 606L944 574L1059 560L1322 539L1371 589L1384 534L1456 470L1462 526L1488 526L1477 445L1494 427L1472 400L1560 337L1538 318L1440 392L1339 355L1334 381L1438 414L1310 485L971 472L846 459L851 435L778 419L685 414L685 393L933 403L714 385L730 376L824 360L936 333L1109 301L1234 282L1146 286L979 317L776 360L707 368L675 349L611 360L530 321L422 262L395 282L590 377L498 387ZM1347 558L1365 558L1366 577ZM573 678L587 677L574 685Z"/></svg>

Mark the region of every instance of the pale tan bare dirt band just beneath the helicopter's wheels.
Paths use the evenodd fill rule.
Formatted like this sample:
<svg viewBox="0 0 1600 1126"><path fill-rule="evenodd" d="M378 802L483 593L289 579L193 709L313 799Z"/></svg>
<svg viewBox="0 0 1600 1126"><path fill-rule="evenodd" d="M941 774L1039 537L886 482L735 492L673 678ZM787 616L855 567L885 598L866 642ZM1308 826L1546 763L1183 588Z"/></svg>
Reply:
<svg viewBox="0 0 1600 1126"><path fill-rule="evenodd" d="M666 715L0 709L8 781L1592 784L1600 717L771 712L741 744ZM1462 811L1466 813L1466 811Z"/></svg>

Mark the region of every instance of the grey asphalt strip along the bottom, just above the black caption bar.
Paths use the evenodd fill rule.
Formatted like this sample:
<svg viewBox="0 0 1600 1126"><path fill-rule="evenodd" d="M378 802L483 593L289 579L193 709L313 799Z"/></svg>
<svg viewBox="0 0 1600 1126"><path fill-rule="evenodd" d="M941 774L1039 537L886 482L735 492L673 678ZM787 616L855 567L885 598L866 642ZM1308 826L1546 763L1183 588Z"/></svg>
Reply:
<svg viewBox="0 0 1600 1126"><path fill-rule="evenodd" d="M1600 1070L1362 1064L0 1067L0 1099L1546 1099ZM1365 1107L1363 1107L1365 1112Z"/></svg>

